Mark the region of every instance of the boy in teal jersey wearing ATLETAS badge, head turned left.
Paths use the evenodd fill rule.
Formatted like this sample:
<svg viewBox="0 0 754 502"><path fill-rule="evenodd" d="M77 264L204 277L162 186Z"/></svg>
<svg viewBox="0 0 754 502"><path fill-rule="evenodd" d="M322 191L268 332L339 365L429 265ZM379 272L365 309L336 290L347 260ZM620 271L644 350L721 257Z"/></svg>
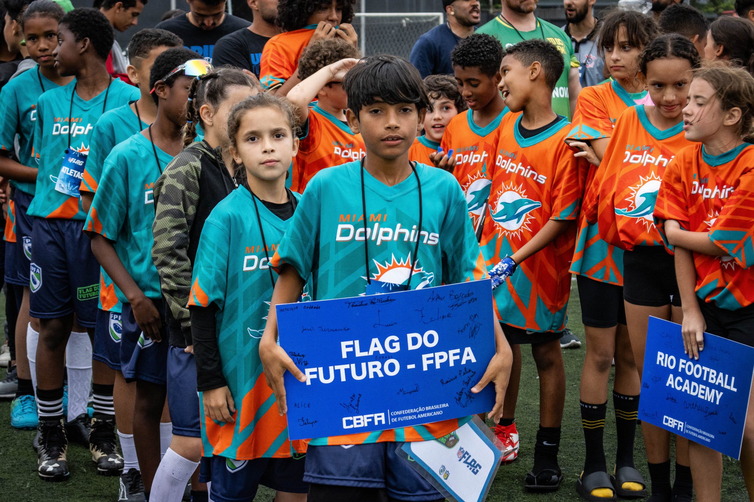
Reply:
<svg viewBox="0 0 754 502"><path fill-rule="evenodd" d="M92 367L90 340L97 319L100 266L91 252L89 239L81 233L86 216L81 209L78 185L87 160L90 132L100 115L139 96L136 87L107 73L105 61L112 48L112 26L94 9L70 11L60 21L58 45L53 50L55 69L73 76L70 84L48 90L39 98L33 134L38 153L34 199L29 205L32 224L31 297L29 314L40 319L36 364L39 412L38 473L42 479L68 479L68 438L63 431L63 359L72 366ZM64 180L68 182L63 182ZM86 333L71 333L76 321ZM69 338L75 347L66 342ZM93 365L95 393L109 392L112 402L113 375L104 364ZM100 387L101 385L101 387ZM69 389L72 388L69 382ZM85 383L88 394L89 382ZM72 396L76 392L72 391ZM84 409L85 412L85 409ZM88 416L82 421L88 423ZM78 427L85 435L84 424ZM115 451L115 427L109 428L107 449ZM84 441L87 441L85 438ZM101 451L101 449L100 449ZM117 453L115 454L117 455ZM106 455L106 458L110 458ZM113 462L113 464L116 464ZM113 466L114 467L114 466ZM117 471L115 471L117 473Z"/></svg>

